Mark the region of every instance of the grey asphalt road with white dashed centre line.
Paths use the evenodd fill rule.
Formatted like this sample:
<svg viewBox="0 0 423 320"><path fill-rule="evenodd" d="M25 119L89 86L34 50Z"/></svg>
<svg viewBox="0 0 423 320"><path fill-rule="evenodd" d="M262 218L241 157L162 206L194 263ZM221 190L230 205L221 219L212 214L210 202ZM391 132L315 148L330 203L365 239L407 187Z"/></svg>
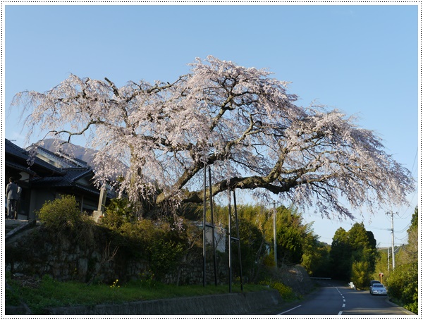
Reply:
<svg viewBox="0 0 423 320"><path fill-rule="evenodd" d="M321 282L321 288L304 301L274 309L272 314L297 315L412 315L388 301L386 296L370 295L369 290L353 290L336 281Z"/></svg>

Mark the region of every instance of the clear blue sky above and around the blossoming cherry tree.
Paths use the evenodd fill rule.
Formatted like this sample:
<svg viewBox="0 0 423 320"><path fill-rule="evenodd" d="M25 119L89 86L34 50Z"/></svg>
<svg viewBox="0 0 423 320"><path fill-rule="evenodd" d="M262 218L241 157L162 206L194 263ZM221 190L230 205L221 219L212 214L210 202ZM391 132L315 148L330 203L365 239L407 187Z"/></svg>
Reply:
<svg viewBox="0 0 423 320"><path fill-rule="evenodd" d="M69 73L107 77L118 86L171 82L188 73L195 57L211 54L269 68L292 82L298 105L315 100L357 114L358 124L378 133L417 180L418 13L417 5L6 5L3 134L25 147L20 112L7 109L17 92L44 92ZM407 240L418 197L410 195L408 209L391 208L398 212L396 244ZM311 210L303 216L328 243L336 229L354 223L321 219ZM363 222L380 247L391 244L384 212L364 213Z"/></svg>

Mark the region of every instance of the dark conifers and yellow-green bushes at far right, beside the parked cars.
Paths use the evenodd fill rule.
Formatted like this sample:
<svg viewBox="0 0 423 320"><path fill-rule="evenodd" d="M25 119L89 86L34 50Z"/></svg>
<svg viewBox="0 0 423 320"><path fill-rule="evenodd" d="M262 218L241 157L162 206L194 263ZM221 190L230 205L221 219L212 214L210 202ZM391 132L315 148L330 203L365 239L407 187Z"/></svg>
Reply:
<svg viewBox="0 0 423 320"><path fill-rule="evenodd" d="M396 266L393 269L391 248L377 250L373 233L365 230L362 223L355 223L348 231L338 228L330 249L328 270L331 277L352 281L359 290L369 290L369 282L379 281L379 273L383 273L382 283L391 301L418 314L417 207L407 231L408 243L396 247Z"/></svg>

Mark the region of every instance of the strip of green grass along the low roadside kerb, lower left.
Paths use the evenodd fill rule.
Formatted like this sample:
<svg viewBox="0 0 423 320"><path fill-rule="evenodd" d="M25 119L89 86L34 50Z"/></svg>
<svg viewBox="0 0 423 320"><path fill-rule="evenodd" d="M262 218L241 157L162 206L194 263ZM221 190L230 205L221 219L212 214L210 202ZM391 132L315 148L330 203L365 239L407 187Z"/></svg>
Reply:
<svg viewBox="0 0 423 320"><path fill-rule="evenodd" d="M49 307L75 305L119 304L123 302L157 300L173 297L192 297L228 293L228 285L165 285L154 281L130 281L125 285L60 282L44 276L39 285L29 288L19 285L6 274L6 281L13 288L13 295L30 307L33 314L45 314ZM244 292L269 290L264 285L244 285ZM240 293L240 286L232 286L233 293ZM15 299L16 300L16 299ZM6 303L7 304L7 303Z"/></svg>

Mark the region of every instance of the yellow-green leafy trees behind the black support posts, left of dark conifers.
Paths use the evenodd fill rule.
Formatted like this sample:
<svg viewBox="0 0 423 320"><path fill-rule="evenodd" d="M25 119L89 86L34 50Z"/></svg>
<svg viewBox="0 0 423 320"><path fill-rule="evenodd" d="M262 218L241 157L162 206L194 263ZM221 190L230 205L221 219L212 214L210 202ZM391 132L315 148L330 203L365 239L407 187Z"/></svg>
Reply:
<svg viewBox="0 0 423 320"><path fill-rule="evenodd" d="M269 259L266 255L266 247L273 251L274 208L260 204L241 204L237 206L237 211L243 270L245 275L246 270L249 270L249 278L256 278L259 266L273 261L273 258ZM227 228L228 208L216 205L214 221ZM235 221L232 226L235 234ZM276 242L280 264L302 264L310 274L315 271L326 273L328 270L328 246L319 242L319 237L313 233L312 223L304 223L301 214L295 209L283 206L276 208ZM234 254L233 257L236 256Z"/></svg>

